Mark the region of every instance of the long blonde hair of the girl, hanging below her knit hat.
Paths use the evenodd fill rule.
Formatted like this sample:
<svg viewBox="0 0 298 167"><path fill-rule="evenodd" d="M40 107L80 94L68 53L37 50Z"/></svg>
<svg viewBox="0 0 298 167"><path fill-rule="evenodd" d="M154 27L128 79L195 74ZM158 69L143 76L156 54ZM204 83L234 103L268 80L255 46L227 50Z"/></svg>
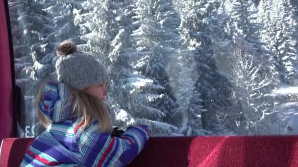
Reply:
<svg viewBox="0 0 298 167"><path fill-rule="evenodd" d="M47 81L43 82L43 84L40 86L35 105L38 111L40 123L46 128L49 127L51 121L41 112L39 103L43 100L43 91ZM109 111L105 107L105 103L82 90L76 90L71 87L69 87L69 89L72 93L71 98L68 101L68 105L71 105L73 109L71 116L77 116L78 118L82 117L82 121L84 122L82 131L88 126L92 125L94 120L97 120L99 122L98 128L100 132L111 133L113 130L112 123L110 120Z"/></svg>

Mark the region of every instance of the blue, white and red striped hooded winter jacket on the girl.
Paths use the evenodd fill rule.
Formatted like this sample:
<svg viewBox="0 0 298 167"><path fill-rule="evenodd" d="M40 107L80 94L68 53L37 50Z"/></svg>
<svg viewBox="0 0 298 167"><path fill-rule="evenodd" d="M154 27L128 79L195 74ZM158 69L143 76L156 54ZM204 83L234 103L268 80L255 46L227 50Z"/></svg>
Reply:
<svg viewBox="0 0 298 167"><path fill-rule="evenodd" d="M52 123L30 146L21 167L122 167L144 148L148 126L129 126L121 138L99 132L97 121L83 131L82 119L70 116L69 98L66 85L47 83L39 107Z"/></svg>

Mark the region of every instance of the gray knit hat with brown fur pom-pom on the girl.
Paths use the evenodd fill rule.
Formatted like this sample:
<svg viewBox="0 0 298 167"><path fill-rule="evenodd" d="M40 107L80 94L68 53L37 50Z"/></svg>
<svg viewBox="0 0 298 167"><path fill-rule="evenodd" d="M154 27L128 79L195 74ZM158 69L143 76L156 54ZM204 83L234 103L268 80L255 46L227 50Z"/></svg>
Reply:
<svg viewBox="0 0 298 167"><path fill-rule="evenodd" d="M109 83L104 66L94 56L77 51L74 42L62 42L56 53L59 56L55 65L58 82L78 90L95 84Z"/></svg>

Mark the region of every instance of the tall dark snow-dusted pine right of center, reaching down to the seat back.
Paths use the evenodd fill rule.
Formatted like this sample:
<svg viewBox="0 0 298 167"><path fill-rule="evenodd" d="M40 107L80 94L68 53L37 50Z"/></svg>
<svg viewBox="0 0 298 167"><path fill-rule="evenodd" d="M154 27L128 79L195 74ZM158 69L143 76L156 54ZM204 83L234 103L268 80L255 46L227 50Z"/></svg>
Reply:
<svg viewBox="0 0 298 167"><path fill-rule="evenodd" d="M188 48L187 56L195 60L194 72L198 75L194 87L204 108L201 112L202 127L221 133L227 129L222 120L229 112L225 108L230 106L231 91L228 81L218 73L210 35L219 3L212 0L181 2L185 11L181 12L184 19L181 20L180 34Z"/></svg>

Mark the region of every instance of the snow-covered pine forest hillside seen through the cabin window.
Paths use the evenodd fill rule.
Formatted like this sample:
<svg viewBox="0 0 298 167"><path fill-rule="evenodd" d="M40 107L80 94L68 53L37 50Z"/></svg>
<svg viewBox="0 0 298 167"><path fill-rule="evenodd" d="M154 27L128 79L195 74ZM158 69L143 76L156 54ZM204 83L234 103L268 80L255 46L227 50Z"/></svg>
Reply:
<svg viewBox="0 0 298 167"><path fill-rule="evenodd" d="M27 137L41 130L34 97L67 39L107 67L121 128L254 135L298 124L297 0L8 1Z"/></svg>

